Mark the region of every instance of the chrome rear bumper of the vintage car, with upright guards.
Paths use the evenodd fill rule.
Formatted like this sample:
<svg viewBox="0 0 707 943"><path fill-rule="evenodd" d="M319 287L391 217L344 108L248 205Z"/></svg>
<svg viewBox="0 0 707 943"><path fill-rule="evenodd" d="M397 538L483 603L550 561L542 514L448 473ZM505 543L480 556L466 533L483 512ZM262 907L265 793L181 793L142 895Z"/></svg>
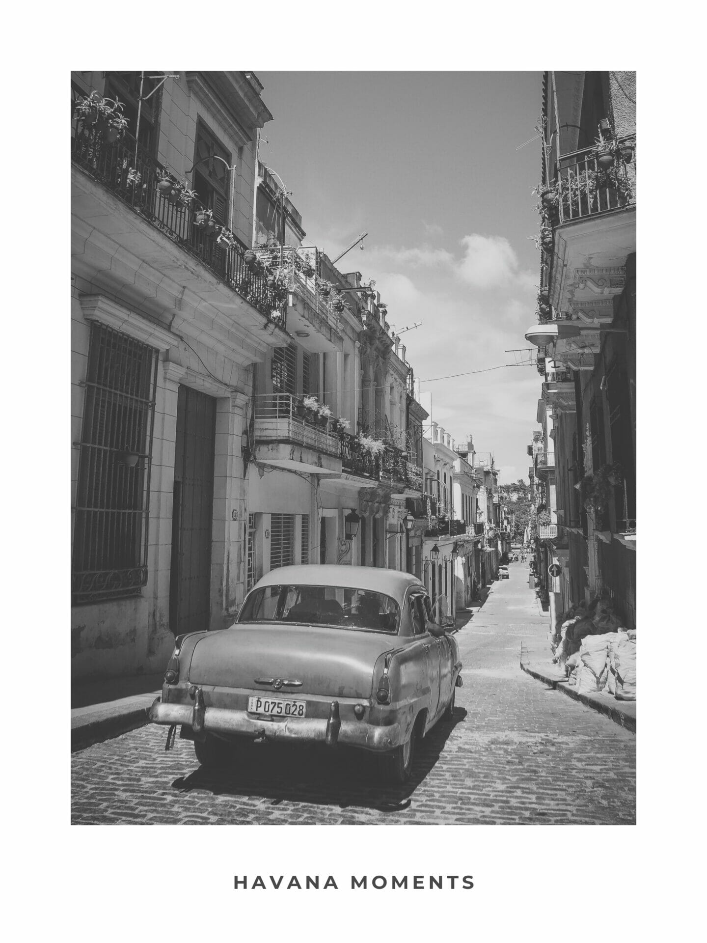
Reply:
<svg viewBox="0 0 707 943"><path fill-rule="evenodd" d="M333 701L328 720L323 718L288 718L286 720L263 720L252 717L242 710L223 707L205 707L197 697L190 704L162 703L159 698L150 708L152 723L182 724L195 734L203 731L211 734L235 734L266 740L302 740L326 743L334 746L362 747L365 750L386 751L403 742L403 728L399 723L386 727L374 727L370 723L355 720L339 720L338 702Z"/></svg>

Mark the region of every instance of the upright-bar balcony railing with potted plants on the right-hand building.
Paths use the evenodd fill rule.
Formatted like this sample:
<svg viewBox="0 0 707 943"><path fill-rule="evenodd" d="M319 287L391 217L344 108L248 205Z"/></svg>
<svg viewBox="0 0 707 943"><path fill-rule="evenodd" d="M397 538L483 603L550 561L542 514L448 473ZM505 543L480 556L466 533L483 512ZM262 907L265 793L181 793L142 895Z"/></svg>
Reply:
<svg viewBox="0 0 707 943"><path fill-rule="evenodd" d="M629 142L617 141L617 147ZM626 164L615 160L608 170L602 170L598 160L596 149L589 147L560 157L555 165L559 223L596 216L634 202Z"/></svg>

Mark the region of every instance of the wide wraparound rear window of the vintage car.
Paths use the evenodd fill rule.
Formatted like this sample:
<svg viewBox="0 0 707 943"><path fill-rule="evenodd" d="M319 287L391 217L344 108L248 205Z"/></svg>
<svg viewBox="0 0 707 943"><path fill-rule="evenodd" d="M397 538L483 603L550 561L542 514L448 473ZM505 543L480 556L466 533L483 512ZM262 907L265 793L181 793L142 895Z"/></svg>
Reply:
<svg viewBox="0 0 707 943"><path fill-rule="evenodd" d="M385 593L354 587L259 587L247 597L238 622L330 625L395 633L400 606Z"/></svg>

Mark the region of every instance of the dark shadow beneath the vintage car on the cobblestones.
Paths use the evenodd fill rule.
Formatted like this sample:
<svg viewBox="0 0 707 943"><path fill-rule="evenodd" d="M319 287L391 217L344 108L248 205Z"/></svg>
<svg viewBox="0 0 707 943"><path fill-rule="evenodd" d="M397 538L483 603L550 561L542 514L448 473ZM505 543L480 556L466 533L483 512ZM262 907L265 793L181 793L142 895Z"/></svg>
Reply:
<svg viewBox="0 0 707 943"><path fill-rule="evenodd" d="M234 761L223 769L199 767L173 781L181 792L206 790L230 795L306 805L370 808L376 812L402 812L412 795L434 768L447 738L467 717L463 707L454 708L452 720L438 720L418 741L410 779L400 786L387 784L379 757L363 750L325 747L323 744L245 744L234 753ZM191 750L188 740L177 740Z"/></svg>

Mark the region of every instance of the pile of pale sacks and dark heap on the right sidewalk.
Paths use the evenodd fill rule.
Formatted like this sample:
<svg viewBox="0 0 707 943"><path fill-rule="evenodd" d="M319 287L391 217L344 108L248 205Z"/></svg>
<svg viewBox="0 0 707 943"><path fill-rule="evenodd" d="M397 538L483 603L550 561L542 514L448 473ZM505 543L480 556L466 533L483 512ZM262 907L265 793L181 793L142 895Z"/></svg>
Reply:
<svg viewBox="0 0 707 943"><path fill-rule="evenodd" d="M562 621L561 621L562 620ZM621 627L608 600L597 597L558 617L553 662L578 691L608 690L617 701L636 699L636 634Z"/></svg>

